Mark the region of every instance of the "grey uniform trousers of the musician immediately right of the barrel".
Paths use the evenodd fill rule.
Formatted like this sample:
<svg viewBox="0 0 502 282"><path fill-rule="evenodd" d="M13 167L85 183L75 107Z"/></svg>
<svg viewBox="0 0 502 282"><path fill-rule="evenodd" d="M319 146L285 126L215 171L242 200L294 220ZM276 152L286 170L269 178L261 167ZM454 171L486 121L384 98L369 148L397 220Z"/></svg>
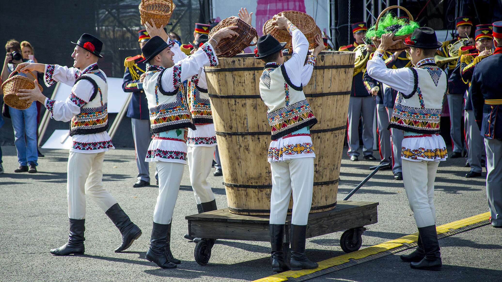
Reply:
<svg viewBox="0 0 502 282"><path fill-rule="evenodd" d="M362 154L373 154L373 118L375 100L373 96L350 96L348 103L347 143L349 156L359 156L359 118L362 116Z"/></svg>

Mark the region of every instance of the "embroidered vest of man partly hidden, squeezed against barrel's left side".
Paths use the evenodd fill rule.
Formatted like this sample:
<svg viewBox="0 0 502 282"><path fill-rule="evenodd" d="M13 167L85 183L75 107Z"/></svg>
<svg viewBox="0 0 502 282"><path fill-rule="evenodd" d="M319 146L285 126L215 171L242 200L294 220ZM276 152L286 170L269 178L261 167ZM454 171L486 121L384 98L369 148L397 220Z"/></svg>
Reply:
<svg viewBox="0 0 502 282"><path fill-rule="evenodd" d="M205 79L204 71L201 73L201 78ZM199 78L197 75L192 76L188 81L187 100L190 114L194 124L213 123L211 113L211 104L209 103L209 95L207 89L199 87Z"/></svg>

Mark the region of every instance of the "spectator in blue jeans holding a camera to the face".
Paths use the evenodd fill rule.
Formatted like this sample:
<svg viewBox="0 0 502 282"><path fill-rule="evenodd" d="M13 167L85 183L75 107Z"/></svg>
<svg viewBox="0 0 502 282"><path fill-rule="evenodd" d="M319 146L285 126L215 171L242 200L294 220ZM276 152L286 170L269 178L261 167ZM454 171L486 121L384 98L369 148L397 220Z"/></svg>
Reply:
<svg viewBox="0 0 502 282"><path fill-rule="evenodd" d="M16 69L18 64L23 62L33 62L33 60L23 59L21 54L21 45L14 39L11 39L5 45L4 67L2 68L2 80L6 81L9 75ZM32 79L31 75L19 73ZM37 73L34 72L35 78ZM19 168L14 172L29 172L36 173L38 166L37 154L37 106L32 103L31 106L24 110L18 110L9 107L9 113L12 119L12 127L14 127L14 145L18 152ZM26 136L26 138L25 138Z"/></svg>

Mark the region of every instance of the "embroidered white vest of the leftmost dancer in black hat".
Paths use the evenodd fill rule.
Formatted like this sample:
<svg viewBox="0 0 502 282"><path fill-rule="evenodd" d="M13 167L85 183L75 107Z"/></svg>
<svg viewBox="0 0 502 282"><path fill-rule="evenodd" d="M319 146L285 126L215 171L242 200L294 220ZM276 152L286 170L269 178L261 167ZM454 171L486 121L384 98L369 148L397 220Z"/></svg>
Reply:
<svg viewBox="0 0 502 282"><path fill-rule="evenodd" d="M86 104L85 101L71 93L70 99L80 106L80 113L70 121L70 136L75 134L92 134L108 129L108 84L106 75L100 69L81 74L75 80L87 80L92 83L94 92Z"/></svg>

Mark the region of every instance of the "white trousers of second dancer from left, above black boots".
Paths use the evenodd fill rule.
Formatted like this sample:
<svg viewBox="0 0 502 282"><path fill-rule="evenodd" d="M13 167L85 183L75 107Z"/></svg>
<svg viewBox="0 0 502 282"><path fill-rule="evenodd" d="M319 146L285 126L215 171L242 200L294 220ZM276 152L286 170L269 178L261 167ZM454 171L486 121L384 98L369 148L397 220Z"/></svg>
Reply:
<svg viewBox="0 0 502 282"><path fill-rule="evenodd" d="M174 205L178 199L184 164L156 162L159 175L159 196L154 210L154 222L169 224L173 217Z"/></svg>

